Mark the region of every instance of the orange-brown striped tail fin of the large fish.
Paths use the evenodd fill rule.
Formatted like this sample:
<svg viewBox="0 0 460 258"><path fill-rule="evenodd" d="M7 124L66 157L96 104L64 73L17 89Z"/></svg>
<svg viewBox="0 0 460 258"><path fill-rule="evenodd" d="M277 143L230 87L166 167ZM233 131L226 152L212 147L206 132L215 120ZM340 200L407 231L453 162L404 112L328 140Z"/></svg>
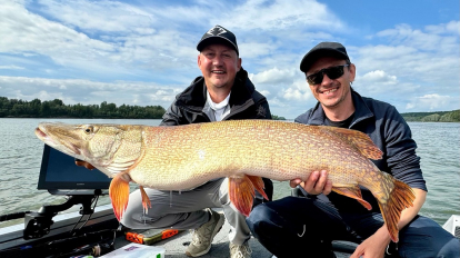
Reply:
<svg viewBox="0 0 460 258"><path fill-rule="evenodd" d="M383 175L387 177L386 181L392 181L393 187L392 189L387 187L387 189L391 189L390 191L386 191L388 192L387 197L376 198L379 202L380 210L382 211L382 217L388 231L390 232L391 240L398 242L398 222L401 218L401 211L413 206L416 195L413 194L412 188L404 182L394 179L388 173Z"/></svg>

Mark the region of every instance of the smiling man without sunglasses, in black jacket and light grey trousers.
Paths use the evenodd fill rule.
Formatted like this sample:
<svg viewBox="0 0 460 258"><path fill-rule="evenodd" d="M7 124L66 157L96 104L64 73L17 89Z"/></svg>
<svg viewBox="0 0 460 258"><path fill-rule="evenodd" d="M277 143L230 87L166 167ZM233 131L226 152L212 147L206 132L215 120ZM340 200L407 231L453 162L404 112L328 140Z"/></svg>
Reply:
<svg viewBox="0 0 460 258"><path fill-rule="evenodd" d="M176 97L163 116L162 126L178 126L234 119L271 119L266 97L259 93L241 67L234 34L216 26L203 34L197 46L198 67L202 76ZM271 198L271 180L263 179ZM212 239L228 220L231 232L230 257L251 257L250 230L243 215L230 206L228 179L221 178L188 191L146 189L152 208L142 212L141 195L130 195L122 224L129 228L193 229L186 255L199 257L211 248ZM132 199L131 199L132 198ZM254 205L262 197L257 195ZM222 208L223 214L210 208Z"/></svg>

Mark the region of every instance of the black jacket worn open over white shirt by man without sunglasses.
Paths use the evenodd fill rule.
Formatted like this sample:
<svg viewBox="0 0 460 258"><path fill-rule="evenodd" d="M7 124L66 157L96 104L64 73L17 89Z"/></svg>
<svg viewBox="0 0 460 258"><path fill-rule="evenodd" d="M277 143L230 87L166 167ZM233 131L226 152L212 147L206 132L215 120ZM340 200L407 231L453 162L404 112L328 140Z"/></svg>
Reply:
<svg viewBox="0 0 460 258"><path fill-rule="evenodd" d="M202 111L207 101L207 88L204 78L197 77L192 83L176 97L176 101L163 115L160 126L179 126L211 120ZM267 98L256 90L256 87L248 78L248 72L241 68L237 72L236 80L230 93L230 113L223 120L238 119L271 119L270 108ZM264 191L272 199L273 183L270 179L263 178ZM260 194L254 199L254 206L262 201Z"/></svg>

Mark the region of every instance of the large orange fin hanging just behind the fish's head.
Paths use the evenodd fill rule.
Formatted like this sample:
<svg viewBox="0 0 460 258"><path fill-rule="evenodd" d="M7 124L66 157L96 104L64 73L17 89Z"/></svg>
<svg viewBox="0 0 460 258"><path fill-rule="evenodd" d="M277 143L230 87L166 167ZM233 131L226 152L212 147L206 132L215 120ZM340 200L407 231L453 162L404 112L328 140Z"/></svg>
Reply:
<svg viewBox="0 0 460 258"><path fill-rule="evenodd" d="M121 172L117 173L109 187L109 196L118 221L122 218L129 200L129 181L126 181L122 176Z"/></svg>

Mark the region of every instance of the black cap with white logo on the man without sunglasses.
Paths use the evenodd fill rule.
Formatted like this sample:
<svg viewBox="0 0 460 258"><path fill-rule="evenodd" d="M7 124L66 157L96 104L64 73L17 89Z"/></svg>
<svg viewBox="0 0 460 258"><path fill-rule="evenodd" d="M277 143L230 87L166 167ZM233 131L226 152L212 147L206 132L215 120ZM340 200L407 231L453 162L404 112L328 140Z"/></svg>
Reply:
<svg viewBox="0 0 460 258"><path fill-rule="evenodd" d="M208 30L208 32L201 37L200 42L198 42L197 50L201 52L206 46L213 43L229 46L230 48L234 49L234 51L237 51L237 54L240 54L238 51L237 37L234 37L230 30L221 26L214 26Z"/></svg>

